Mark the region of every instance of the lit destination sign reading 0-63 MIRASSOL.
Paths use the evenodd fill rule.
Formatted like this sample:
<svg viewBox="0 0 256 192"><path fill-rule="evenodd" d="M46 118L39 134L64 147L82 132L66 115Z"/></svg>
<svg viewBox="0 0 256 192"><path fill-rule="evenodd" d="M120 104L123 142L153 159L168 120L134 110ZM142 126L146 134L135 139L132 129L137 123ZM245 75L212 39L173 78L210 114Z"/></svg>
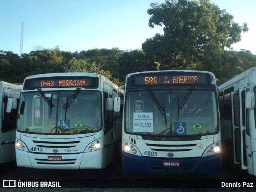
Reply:
<svg viewBox="0 0 256 192"><path fill-rule="evenodd" d="M86 87L98 88L98 77L42 77L35 79L26 79L24 90L37 88L58 88L58 87Z"/></svg>

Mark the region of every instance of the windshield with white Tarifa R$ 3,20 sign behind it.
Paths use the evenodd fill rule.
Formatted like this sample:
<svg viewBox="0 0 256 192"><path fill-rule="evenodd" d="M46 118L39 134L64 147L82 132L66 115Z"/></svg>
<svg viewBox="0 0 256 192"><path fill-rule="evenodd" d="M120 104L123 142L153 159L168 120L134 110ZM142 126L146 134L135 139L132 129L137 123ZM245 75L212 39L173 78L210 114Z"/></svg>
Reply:
<svg viewBox="0 0 256 192"><path fill-rule="evenodd" d="M126 97L125 131L140 135L204 135L218 131L214 91L146 90Z"/></svg>

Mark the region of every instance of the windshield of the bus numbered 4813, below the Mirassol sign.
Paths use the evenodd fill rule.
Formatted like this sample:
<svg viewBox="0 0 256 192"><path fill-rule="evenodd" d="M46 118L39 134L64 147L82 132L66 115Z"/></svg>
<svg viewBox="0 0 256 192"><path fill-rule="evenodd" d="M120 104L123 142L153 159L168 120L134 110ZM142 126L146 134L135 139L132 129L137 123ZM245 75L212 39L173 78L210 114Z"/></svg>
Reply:
<svg viewBox="0 0 256 192"><path fill-rule="evenodd" d="M78 134L102 128L100 92L38 91L22 93L20 98L18 131Z"/></svg>

